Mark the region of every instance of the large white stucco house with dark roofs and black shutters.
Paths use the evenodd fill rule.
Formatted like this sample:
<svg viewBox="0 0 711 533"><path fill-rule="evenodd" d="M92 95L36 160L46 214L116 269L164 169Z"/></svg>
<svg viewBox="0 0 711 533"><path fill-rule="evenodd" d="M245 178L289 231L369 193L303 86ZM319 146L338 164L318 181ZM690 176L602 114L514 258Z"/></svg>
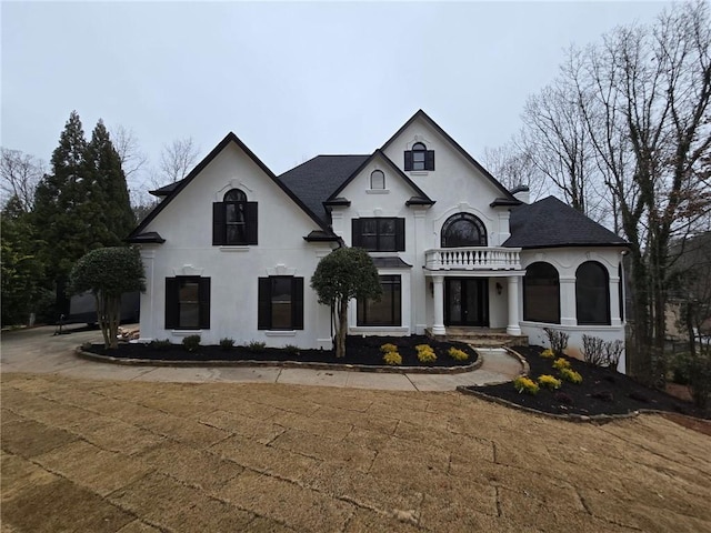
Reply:
<svg viewBox="0 0 711 533"><path fill-rule="evenodd" d="M508 191L423 111L381 148L319 155L277 177L229 133L129 235L147 274L141 338L330 349L309 286L340 245L371 253L379 302L351 302L351 334L543 328L624 340L625 242L549 197ZM477 330L474 330L477 331ZM624 361L620 363L624 368Z"/></svg>

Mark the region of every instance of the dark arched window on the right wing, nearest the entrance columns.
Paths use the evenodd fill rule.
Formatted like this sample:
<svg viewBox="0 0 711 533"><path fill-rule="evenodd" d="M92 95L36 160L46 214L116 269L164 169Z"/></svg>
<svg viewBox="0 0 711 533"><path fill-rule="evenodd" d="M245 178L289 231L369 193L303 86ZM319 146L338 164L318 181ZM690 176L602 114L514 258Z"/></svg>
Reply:
<svg viewBox="0 0 711 533"><path fill-rule="evenodd" d="M550 263L529 264L523 278L523 320L560 323L560 281Z"/></svg>

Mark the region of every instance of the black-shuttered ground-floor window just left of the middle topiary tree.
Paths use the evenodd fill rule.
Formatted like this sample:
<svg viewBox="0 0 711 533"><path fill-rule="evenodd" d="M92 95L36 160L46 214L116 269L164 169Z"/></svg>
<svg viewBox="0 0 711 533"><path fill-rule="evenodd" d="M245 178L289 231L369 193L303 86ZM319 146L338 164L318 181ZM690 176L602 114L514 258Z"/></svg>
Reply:
<svg viewBox="0 0 711 533"><path fill-rule="evenodd" d="M303 278L272 275L259 279L257 328L303 330Z"/></svg>

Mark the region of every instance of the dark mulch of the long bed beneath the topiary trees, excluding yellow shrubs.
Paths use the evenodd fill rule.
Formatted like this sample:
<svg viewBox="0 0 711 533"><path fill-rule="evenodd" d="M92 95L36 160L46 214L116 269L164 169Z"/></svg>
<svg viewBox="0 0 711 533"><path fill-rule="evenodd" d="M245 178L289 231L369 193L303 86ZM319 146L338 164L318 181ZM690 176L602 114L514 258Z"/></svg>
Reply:
<svg viewBox="0 0 711 533"><path fill-rule="evenodd" d="M402 356L402 366L462 366L477 361L477 352L469 345L459 342L440 342L423 335L412 336L349 336L346 343L346 356L337 359L332 350L301 350L264 348L262 351L248 346L233 346L223 350L220 346L199 346L188 352L182 344L171 344L166 349L157 349L150 344L120 343L118 350L106 350L103 344L92 344L86 351L122 359L140 359L148 361L297 361L311 363L339 363L384 365L380 346L385 343L395 344ZM422 364L418 360L414 346L429 344L434 349L437 361ZM450 346L459 348L469 354L464 362L455 361L447 354Z"/></svg>

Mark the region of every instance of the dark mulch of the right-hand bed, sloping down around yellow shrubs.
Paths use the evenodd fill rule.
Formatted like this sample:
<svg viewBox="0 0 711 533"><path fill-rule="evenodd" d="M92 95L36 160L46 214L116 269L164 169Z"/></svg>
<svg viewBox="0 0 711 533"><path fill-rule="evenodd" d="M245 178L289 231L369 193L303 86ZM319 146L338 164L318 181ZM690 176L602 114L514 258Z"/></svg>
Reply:
<svg viewBox="0 0 711 533"><path fill-rule="evenodd" d="M542 348L517 346L515 350L528 361L531 379L537 380L542 374L557 376L558 372L552 368L554 360L540 356ZM710 418L709 412L699 412L692 403L662 391L649 389L614 370L595 366L577 359L569 359L569 361L573 370L582 375L582 383L563 382L557 391L541 388L535 395L519 393L512 383L468 389L552 414L624 414L648 409Z"/></svg>

